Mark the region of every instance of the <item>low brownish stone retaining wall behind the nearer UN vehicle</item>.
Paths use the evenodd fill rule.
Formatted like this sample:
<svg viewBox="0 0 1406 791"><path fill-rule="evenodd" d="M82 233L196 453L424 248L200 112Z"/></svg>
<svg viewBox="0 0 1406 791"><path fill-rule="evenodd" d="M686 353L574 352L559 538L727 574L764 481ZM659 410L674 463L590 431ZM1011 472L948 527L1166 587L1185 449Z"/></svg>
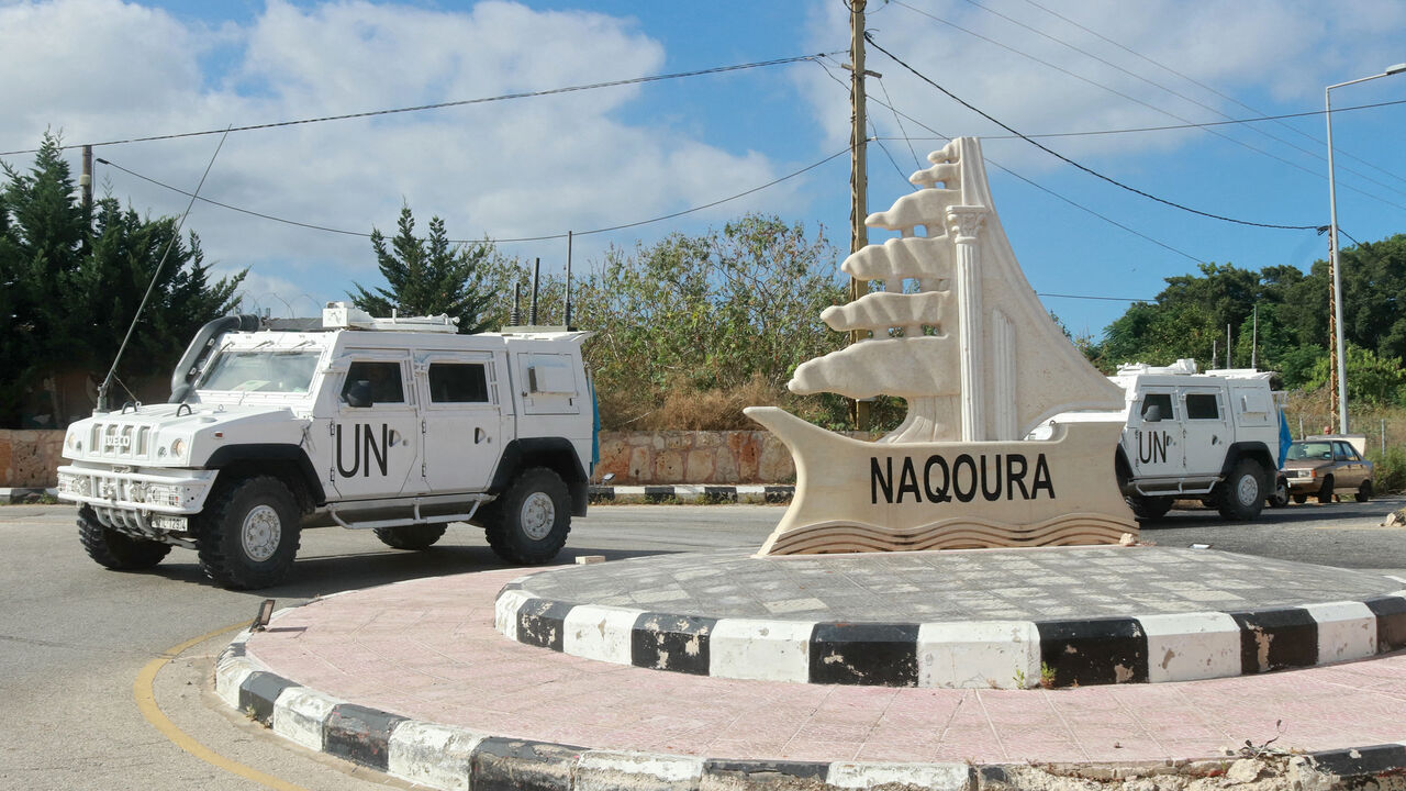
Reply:
<svg viewBox="0 0 1406 791"><path fill-rule="evenodd" d="M56 486L62 445L62 431L0 431L0 487ZM766 431L603 431L595 481L606 473L616 486L796 480L790 452Z"/></svg>

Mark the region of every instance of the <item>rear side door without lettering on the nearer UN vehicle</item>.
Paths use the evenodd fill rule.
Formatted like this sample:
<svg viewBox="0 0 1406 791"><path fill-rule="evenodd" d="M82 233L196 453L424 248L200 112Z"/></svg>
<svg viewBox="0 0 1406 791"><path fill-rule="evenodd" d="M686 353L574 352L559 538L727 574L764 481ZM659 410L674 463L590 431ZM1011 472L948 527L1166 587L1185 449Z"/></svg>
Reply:
<svg viewBox="0 0 1406 791"><path fill-rule="evenodd" d="M430 352L416 359L420 476L427 491L482 491L502 452L498 363L491 352Z"/></svg>

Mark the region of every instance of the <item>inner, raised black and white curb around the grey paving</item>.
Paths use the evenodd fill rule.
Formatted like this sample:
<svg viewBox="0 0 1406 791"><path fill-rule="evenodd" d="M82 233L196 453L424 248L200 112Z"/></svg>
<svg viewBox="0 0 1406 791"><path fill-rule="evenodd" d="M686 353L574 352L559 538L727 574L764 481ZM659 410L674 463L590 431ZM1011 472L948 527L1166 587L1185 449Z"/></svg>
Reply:
<svg viewBox="0 0 1406 791"><path fill-rule="evenodd" d="M537 598L503 586L520 643L655 670L810 684L1087 687L1250 676L1406 647L1406 591L1244 612L1071 621L827 624L704 618Z"/></svg>

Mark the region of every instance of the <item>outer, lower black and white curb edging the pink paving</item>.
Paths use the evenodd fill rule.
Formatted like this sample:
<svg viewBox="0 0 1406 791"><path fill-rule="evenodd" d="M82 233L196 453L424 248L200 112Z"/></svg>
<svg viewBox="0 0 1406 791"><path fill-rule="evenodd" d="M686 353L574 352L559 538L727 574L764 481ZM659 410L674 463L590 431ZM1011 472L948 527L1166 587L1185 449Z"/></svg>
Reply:
<svg viewBox="0 0 1406 791"><path fill-rule="evenodd" d="M408 719L301 687L245 652L242 632L215 666L215 692L276 735L392 777L444 791L737 791L904 787L929 791L1005 791L1049 777L1136 778L1168 773L1220 776L1233 759L1101 764L973 764L727 760L598 750L512 739ZM1406 742L1281 756L1281 771L1319 776L1319 788L1355 788L1406 771Z"/></svg>

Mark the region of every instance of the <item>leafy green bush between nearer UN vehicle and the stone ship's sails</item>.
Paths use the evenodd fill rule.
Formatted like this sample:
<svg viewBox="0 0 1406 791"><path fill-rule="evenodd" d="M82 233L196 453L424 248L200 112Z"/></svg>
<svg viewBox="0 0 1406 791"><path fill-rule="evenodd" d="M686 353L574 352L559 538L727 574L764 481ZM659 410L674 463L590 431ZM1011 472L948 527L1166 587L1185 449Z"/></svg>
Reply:
<svg viewBox="0 0 1406 791"><path fill-rule="evenodd" d="M801 225L756 214L721 231L609 251L572 296L575 322L596 332L586 353L603 419L662 426L671 418L634 421L686 394L786 400L799 363L846 342L820 319L845 298L837 263L824 232L810 238Z"/></svg>

